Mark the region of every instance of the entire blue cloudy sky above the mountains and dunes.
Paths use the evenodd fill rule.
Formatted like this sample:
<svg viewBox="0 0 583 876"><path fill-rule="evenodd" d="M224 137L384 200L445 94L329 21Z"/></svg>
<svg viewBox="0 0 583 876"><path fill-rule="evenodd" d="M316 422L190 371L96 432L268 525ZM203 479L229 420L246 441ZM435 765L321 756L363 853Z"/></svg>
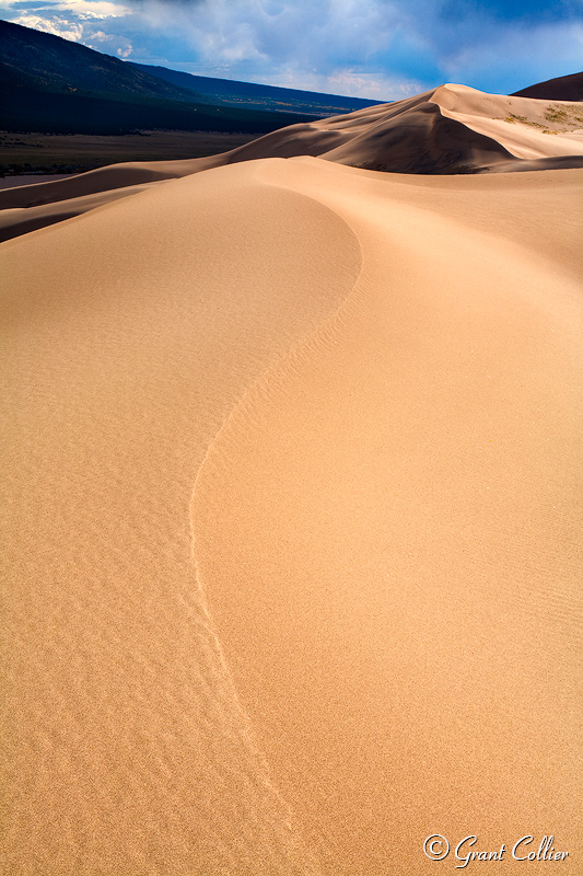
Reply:
<svg viewBox="0 0 583 876"><path fill-rule="evenodd" d="M140 64L381 101L583 69L583 0L0 0L0 18Z"/></svg>

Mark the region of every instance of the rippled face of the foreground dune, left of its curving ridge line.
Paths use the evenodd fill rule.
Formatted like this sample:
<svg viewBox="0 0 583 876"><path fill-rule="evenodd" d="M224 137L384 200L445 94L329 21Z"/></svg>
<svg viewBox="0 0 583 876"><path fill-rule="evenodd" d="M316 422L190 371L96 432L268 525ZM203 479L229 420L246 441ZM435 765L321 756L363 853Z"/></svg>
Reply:
<svg viewBox="0 0 583 876"><path fill-rule="evenodd" d="M209 442L361 265L329 208L257 171L2 247L3 873L319 873L191 558Z"/></svg>

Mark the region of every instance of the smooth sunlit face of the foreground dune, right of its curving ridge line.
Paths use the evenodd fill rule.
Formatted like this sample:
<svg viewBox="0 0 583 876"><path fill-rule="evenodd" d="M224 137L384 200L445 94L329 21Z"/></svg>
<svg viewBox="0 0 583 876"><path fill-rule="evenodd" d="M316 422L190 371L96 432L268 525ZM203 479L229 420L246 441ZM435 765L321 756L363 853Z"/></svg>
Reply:
<svg viewBox="0 0 583 876"><path fill-rule="evenodd" d="M193 497L200 580L276 782L328 876L429 876L438 833L509 857L553 834L575 876L581 256L557 261L513 194L546 187L576 224L580 188L473 177L486 220L469 229L466 178L427 210L411 178L313 160L261 176L337 211L363 254L338 313L232 413Z"/></svg>

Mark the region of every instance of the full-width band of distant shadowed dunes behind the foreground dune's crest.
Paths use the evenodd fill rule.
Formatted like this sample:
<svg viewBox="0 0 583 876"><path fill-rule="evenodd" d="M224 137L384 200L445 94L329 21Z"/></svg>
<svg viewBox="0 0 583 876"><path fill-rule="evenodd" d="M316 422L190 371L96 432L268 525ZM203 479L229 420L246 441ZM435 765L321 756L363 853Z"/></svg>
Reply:
<svg viewBox="0 0 583 876"><path fill-rule="evenodd" d="M115 197L121 197L142 184L219 165L300 155L416 174L578 168L583 165L583 104L442 85L393 104L292 125L220 155L115 164L69 180L5 189L0 192L0 210L36 211L30 220L5 214L0 240L85 211L91 201L81 198L86 195L115 189ZM69 201L66 209L49 206L63 200ZM93 199L95 206L98 203Z"/></svg>

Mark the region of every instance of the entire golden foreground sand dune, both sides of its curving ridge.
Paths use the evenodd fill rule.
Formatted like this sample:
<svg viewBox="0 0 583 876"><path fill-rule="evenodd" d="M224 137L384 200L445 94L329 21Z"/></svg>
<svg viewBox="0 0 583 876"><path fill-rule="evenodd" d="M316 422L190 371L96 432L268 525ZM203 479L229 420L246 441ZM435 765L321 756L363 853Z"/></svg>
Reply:
<svg viewBox="0 0 583 876"><path fill-rule="evenodd" d="M154 171L0 247L0 868L576 876L582 171Z"/></svg>

